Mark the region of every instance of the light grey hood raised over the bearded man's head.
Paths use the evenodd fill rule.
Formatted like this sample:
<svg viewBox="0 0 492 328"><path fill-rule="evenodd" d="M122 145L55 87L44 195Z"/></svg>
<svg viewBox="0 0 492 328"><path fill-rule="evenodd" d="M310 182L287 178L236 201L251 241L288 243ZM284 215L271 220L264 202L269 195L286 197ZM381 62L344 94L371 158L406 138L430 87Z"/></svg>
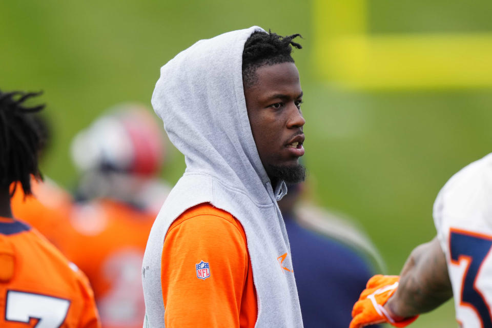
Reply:
<svg viewBox="0 0 492 328"><path fill-rule="evenodd" d="M270 202L242 85L242 52L253 26L200 40L161 67L152 106L185 155L187 174L208 174L255 200ZM253 192L254 191L254 192ZM280 198L285 184L279 183ZM265 198L266 197L266 198Z"/></svg>

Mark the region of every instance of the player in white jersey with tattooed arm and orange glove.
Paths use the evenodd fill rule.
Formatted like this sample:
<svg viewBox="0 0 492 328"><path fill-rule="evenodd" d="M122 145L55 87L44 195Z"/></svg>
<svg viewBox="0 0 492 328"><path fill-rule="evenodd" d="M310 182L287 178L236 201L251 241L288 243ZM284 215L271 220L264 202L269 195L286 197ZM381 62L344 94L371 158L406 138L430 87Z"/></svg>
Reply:
<svg viewBox="0 0 492 328"><path fill-rule="evenodd" d="M447 181L434 203L437 236L417 247L400 276L375 276L354 306L351 328L403 327L453 297L465 328L492 327L492 154Z"/></svg>

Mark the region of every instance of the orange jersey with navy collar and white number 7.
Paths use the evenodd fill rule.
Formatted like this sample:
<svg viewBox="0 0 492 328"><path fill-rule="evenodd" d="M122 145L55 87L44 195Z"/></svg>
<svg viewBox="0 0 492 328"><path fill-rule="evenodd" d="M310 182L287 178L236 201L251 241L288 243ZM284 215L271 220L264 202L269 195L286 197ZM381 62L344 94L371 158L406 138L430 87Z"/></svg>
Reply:
<svg viewBox="0 0 492 328"><path fill-rule="evenodd" d="M98 328L85 275L36 230L0 218L0 326Z"/></svg>

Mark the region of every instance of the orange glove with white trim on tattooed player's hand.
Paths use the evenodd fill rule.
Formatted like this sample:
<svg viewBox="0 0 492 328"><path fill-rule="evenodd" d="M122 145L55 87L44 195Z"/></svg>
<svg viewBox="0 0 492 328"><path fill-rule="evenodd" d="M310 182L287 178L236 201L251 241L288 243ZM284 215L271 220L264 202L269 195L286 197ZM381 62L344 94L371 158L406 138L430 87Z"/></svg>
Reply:
<svg viewBox="0 0 492 328"><path fill-rule="evenodd" d="M350 328L360 328L370 324L387 322L395 327L405 327L414 322L418 316L398 320L384 308L387 300L398 288L399 276L376 275L367 281L366 289L352 310Z"/></svg>

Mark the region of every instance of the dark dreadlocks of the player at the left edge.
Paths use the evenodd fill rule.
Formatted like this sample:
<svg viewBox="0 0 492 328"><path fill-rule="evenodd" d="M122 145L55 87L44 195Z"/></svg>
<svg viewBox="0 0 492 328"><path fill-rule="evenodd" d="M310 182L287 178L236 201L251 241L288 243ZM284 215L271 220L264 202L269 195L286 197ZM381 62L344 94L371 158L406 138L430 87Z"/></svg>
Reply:
<svg viewBox="0 0 492 328"><path fill-rule="evenodd" d="M39 150L43 147L43 133L33 117L45 105L27 107L23 103L41 92L0 91L0 187L9 188L12 197L17 182L25 195L31 194L31 175L42 179L37 166Z"/></svg>

